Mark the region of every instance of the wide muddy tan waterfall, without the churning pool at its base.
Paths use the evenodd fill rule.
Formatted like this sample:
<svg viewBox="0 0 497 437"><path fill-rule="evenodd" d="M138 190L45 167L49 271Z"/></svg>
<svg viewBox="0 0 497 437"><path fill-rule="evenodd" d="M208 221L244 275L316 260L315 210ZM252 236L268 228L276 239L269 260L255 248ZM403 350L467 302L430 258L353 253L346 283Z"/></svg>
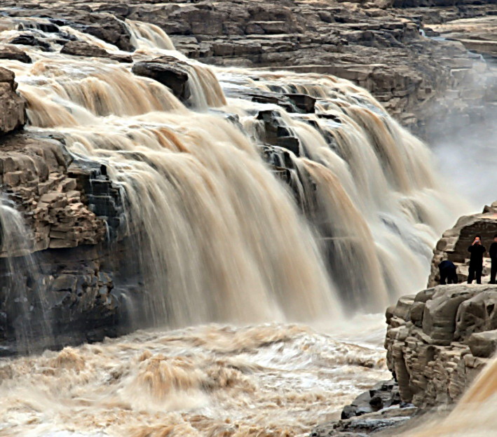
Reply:
<svg viewBox="0 0 497 437"><path fill-rule="evenodd" d="M57 130L69 152L104 163L124 187L147 320L311 321L343 303L381 310L423 284L456 202L444 200L427 147L367 91L333 76L207 67L158 27L127 25L135 60L186 63L188 100L130 65L59 53L50 34L53 52L2 65L27 100L29 130ZM315 108L290 112L247 98L254 91L305 94ZM295 149L264 138L275 119ZM300 210L265 149L285 161Z"/></svg>

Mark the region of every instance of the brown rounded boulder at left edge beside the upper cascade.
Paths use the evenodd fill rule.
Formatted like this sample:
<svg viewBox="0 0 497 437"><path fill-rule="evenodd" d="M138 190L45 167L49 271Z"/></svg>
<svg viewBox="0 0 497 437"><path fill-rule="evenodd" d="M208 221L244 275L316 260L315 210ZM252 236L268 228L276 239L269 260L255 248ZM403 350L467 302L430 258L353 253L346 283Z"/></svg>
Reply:
<svg viewBox="0 0 497 437"><path fill-rule="evenodd" d="M26 101L15 92L15 74L0 67L0 135L22 128L26 123Z"/></svg>

